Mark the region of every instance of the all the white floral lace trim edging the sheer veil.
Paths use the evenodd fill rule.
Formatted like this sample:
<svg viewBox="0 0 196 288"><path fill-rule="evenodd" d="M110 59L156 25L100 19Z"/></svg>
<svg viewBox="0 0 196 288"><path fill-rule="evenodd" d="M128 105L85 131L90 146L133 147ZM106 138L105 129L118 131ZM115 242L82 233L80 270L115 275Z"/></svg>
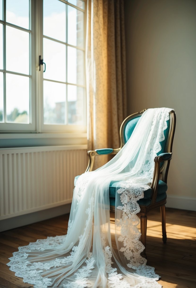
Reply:
<svg viewBox="0 0 196 288"><path fill-rule="evenodd" d="M138 185L137 183L150 183L150 179L153 175L153 156L156 156L156 153L160 151L160 141L164 140L164 129L167 128L166 121L169 119L169 116L165 118L165 122L162 127L159 126L159 119L162 118L162 113L164 111L158 111L158 116L156 116L156 121L153 121L152 129L149 134L149 139L147 141L147 151L146 162L143 165L143 171L141 174L130 181L124 181L121 183L121 188L117 191L116 197L120 198L121 205L116 207L116 209L121 211L121 218L116 219L116 226L120 227L121 235L118 237L118 241L122 246L119 250L123 253L124 257L128 260L127 266L130 269L134 269L134 273L137 274L137 278L140 281L134 288L157 288L161 287L155 280L159 279L159 276L155 274L154 268L146 265L146 259L142 258L140 253L143 251L144 246L139 241L140 233L137 229L139 223L139 218L137 213L140 211L137 201L143 198L144 190L149 188L148 185ZM153 127L154 126L154 127ZM156 127L155 127L156 126ZM155 140L157 135L159 139ZM155 143L155 147L151 147L151 142ZM141 177L141 178L139 178ZM85 176L79 177L76 189L75 196L77 200L77 205L80 203L83 196L85 196L85 187L87 186L89 180L91 179L90 173L85 173ZM87 240L89 239L91 228L93 225L93 211L94 211L94 200L95 192L92 191L91 196L89 197L89 207L85 206L84 215L86 217L86 223L84 227L84 233L79 236L77 245L72 247L72 251L67 257L59 257L55 260L49 260L48 262L30 262L28 261L28 253L37 250L45 251L47 249L58 251L60 250L60 245L64 244L67 236L56 236L48 237L44 240L37 240L35 243L30 243L28 246L19 247L19 251L13 253L13 257L10 258L10 262L7 264L11 266L10 270L16 272L16 276L24 278L24 282L34 284L34 288L47 288L48 286L53 285L52 279L48 277L42 277L41 274L48 272L53 267L66 267L71 262L80 258L82 251L84 251ZM79 205L77 206L79 207ZM76 212L78 208L74 208ZM71 230L74 221L70 220L68 224L68 230ZM77 236L78 237L78 236ZM129 283L124 279L122 274L118 274L117 268L113 268L112 264L112 252L109 246L106 246L106 234L101 234L101 242L104 247L103 255L105 257L105 272L107 276L108 287L111 288L128 288L130 287ZM88 254L88 253L87 253ZM70 287L70 288L84 288L84 287L93 287L91 281L88 279L91 276L93 268L95 268L95 259L90 253L87 256L88 259L83 260L86 265L83 265L81 268L78 267L78 270L73 274L75 278L74 281L65 280L65 283L62 283L61 287ZM77 262L77 261L76 261ZM73 279L72 279L73 280ZM66 282L67 281L67 282Z"/></svg>

